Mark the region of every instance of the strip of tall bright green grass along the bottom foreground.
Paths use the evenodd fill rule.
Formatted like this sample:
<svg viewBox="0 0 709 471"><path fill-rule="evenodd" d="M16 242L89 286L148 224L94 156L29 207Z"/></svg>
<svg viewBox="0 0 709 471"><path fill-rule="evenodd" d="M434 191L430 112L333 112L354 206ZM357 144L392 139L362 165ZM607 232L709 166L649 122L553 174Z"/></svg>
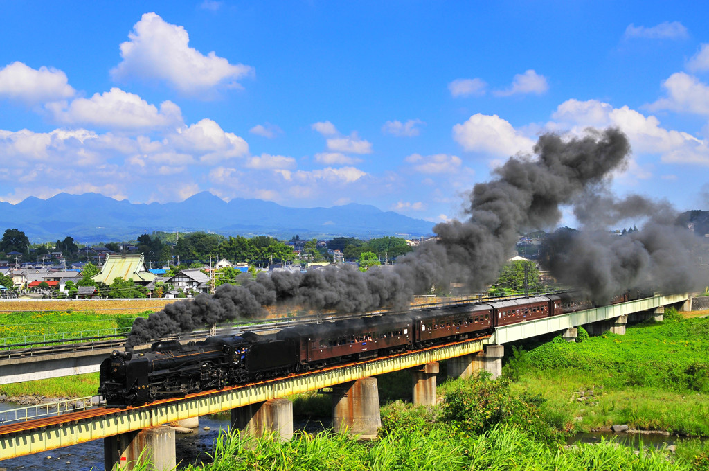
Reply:
<svg viewBox="0 0 709 471"><path fill-rule="evenodd" d="M480 435L450 426L428 433L392 431L374 443L360 443L333 433L296 433L280 443L272 436L244 438L220 433L213 462L189 470L692 470L691 462L667 450L630 448L616 443L548 447L519 428L497 426Z"/></svg>

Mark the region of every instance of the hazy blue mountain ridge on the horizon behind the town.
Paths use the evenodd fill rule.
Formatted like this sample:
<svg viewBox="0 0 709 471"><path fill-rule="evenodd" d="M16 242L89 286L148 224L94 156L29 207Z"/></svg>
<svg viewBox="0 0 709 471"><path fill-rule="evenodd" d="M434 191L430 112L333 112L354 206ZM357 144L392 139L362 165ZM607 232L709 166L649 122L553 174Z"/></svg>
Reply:
<svg viewBox="0 0 709 471"><path fill-rule="evenodd" d="M0 202L0 230L17 228L30 241L63 239L81 243L132 240L152 231L205 231L224 235L272 235L278 238L378 237L432 233L433 223L375 206L347 204L331 208L289 208L261 199L228 203L201 192L181 203L132 204L96 193L34 196L18 204Z"/></svg>

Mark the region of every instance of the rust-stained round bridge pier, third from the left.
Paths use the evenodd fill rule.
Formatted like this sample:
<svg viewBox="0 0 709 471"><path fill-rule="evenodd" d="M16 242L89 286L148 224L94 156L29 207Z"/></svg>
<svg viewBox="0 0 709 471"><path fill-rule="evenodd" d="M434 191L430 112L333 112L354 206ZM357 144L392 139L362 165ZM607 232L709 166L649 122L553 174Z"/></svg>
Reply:
<svg viewBox="0 0 709 471"><path fill-rule="evenodd" d="M367 377L333 386L333 428L336 432L373 439L379 427L381 416L376 378Z"/></svg>

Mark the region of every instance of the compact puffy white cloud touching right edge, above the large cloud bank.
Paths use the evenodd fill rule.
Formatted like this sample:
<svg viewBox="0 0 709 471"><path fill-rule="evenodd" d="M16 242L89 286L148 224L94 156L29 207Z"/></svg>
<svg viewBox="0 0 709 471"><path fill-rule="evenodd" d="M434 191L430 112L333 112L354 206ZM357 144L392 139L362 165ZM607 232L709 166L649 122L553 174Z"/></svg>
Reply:
<svg viewBox="0 0 709 471"><path fill-rule="evenodd" d="M684 72L671 74L662 83L667 97L649 104L647 109L657 111L668 109L679 113L709 115L709 87Z"/></svg>

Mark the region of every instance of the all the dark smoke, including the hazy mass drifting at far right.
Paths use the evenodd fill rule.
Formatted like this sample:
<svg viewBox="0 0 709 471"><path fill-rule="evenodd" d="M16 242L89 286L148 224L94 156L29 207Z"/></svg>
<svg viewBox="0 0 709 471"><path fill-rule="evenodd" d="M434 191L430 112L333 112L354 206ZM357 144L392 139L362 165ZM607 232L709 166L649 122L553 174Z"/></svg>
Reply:
<svg viewBox="0 0 709 471"><path fill-rule="evenodd" d="M589 129L581 137L541 135L534 155L515 156L476 184L467 221L439 223L436 243L399 257L393 267L359 272L326 267L306 273L248 275L240 286L223 284L214 296L169 304L138 318L128 345L191 331L234 318L256 316L263 306L293 303L311 309L364 312L384 306L406 308L415 293L433 285L464 282L481 290L494 282L521 232L554 228L562 206L571 205L581 231L557 231L542 260L560 282L604 301L619 287L652 285L667 291L693 289L693 243L686 228L674 225L674 211L641 196L615 199L610 175L627 166L630 144L617 128ZM648 216L632 237L610 238L609 223ZM621 240L622 239L622 240ZM658 276L660 275L660 276Z"/></svg>

